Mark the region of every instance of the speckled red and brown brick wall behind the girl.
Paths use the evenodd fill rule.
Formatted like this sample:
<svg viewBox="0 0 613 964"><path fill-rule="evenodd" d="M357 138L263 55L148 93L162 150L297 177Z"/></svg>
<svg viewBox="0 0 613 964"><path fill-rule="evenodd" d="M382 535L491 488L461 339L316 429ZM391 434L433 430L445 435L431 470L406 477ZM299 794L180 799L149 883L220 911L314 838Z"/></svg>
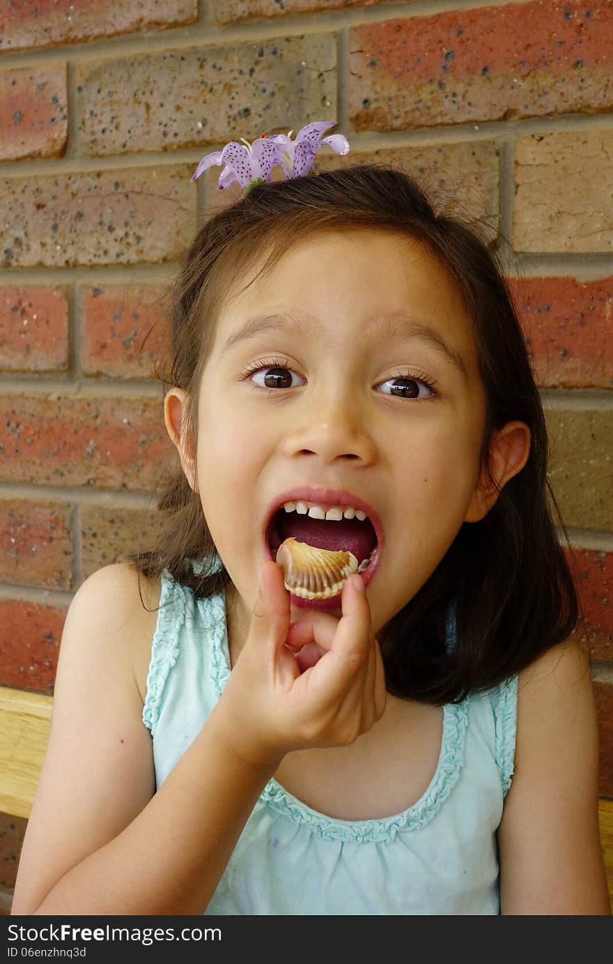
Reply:
<svg viewBox="0 0 613 964"><path fill-rule="evenodd" d="M610 0L3 5L0 684L53 692L72 595L135 545L173 456L151 362L220 202L200 157L337 119L351 161L401 161L515 252L613 797L611 77ZM0 816L0 909L24 827Z"/></svg>

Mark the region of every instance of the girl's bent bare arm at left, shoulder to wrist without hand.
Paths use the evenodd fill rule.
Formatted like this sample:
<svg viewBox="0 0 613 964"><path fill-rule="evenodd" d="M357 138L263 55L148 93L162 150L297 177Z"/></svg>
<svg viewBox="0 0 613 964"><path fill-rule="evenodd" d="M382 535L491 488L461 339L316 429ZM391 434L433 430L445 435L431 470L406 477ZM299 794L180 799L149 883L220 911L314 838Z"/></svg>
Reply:
<svg viewBox="0 0 613 964"><path fill-rule="evenodd" d="M227 752L211 722L155 793L132 669L155 615L126 564L70 605L13 914L201 913L271 775Z"/></svg>

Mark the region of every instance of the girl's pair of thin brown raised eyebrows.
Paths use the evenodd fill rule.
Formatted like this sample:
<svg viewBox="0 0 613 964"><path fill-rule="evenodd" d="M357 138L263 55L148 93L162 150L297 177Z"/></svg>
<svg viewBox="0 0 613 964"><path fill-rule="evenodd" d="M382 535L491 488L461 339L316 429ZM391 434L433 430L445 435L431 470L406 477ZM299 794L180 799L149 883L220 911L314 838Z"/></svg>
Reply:
<svg viewBox="0 0 613 964"><path fill-rule="evenodd" d="M229 335L222 348L225 355L235 345L247 341L257 335L268 332L285 332L288 335L306 335L315 341L321 337L321 330L309 315L301 316L290 311L274 312L272 314L256 314L248 318L243 327ZM423 341L434 348L447 362L452 364L463 376L468 378L467 365L463 356L447 344L436 328L424 325L404 314L375 315L364 322L363 335L368 337L377 335L379 339L396 339L401 341Z"/></svg>

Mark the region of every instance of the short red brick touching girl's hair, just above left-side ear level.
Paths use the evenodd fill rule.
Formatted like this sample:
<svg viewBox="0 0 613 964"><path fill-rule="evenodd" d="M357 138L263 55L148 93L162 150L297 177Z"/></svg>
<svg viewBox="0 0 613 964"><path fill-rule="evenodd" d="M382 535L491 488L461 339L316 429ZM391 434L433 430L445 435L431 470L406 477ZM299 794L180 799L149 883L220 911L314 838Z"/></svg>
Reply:
<svg viewBox="0 0 613 964"><path fill-rule="evenodd" d="M88 375L151 378L170 345L160 284L107 284L81 292L81 367Z"/></svg>

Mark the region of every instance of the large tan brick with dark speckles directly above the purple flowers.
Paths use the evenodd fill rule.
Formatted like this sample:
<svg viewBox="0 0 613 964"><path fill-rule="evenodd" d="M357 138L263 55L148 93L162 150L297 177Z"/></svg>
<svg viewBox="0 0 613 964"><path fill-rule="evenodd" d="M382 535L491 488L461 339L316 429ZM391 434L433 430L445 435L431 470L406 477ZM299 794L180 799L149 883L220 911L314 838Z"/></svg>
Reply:
<svg viewBox="0 0 613 964"><path fill-rule="evenodd" d="M309 34L87 61L76 83L82 153L252 141L333 118L336 39Z"/></svg>

